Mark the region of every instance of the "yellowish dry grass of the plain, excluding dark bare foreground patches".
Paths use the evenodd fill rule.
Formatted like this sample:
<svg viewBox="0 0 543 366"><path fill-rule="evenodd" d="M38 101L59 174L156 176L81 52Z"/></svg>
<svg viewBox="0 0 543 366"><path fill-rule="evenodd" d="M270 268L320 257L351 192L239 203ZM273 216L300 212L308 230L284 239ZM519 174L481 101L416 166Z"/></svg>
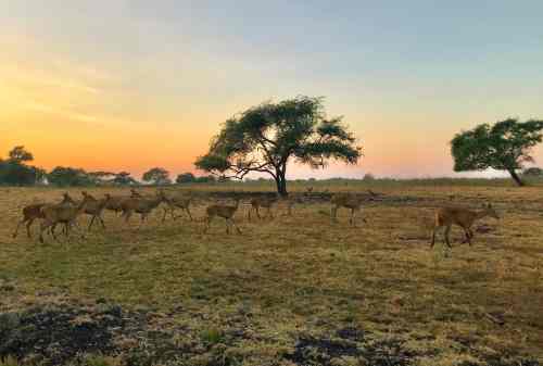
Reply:
<svg viewBox="0 0 543 366"><path fill-rule="evenodd" d="M209 189L216 187L202 188ZM105 191L113 189L89 190L96 197ZM160 209L136 230L137 219L127 227L108 212L105 232L94 227L83 241L73 236L39 244L24 235L11 238L21 207L58 200L62 191L0 188L0 313L43 302L48 294L104 298L126 308L168 314L165 326L190 329L203 344L220 343L223 331L241 314L237 327L251 337L230 352L243 365L275 359L290 365L293 361L283 355L294 352L301 337L330 338L349 327L364 329L376 341L401 339L419 365L484 364L495 354L541 362L543 189L405 186L381 191L397 199L366 205L368 224L357 228L349 226L341 210L340 223L332 225L329 205L323 203L296 206L292 217L249 223L245 204L237 214L242 236L226 236L218 219L203 235L205 206L200 205L193 210L195 223L161 224ZM78 190L70 192L78 195ZM459 244L456 228L452 251L441 236L430 250L429 217L451 194L468 206L492 202L503 218L481 222L488 232L476 231L472 248ZM12 289L2 292L8 285Z"/></svg>

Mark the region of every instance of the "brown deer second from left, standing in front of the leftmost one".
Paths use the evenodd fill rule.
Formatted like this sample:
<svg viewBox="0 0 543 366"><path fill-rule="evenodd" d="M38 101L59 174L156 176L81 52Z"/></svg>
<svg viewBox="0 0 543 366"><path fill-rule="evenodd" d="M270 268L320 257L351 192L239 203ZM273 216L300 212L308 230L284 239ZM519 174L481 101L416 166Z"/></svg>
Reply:
<svg viewBox="0 0 543 366"><path fill-rule="evenodd" d="M77 225L77 216L81 215L85 212L85 207L89 202L89 198L86 197L84 200L74 205L71 203L59 203L59 204L46 204L41 207L42 220L39 225L39 241L43 243L43 231L50 229L50 232L54 240L56 240L56 236L54 234L54 228L58 224L64 224L64 234L66 237L68 236L70 228L72 225L76 226L79 229L79 225ZM81 238L84 238L81 234Z"/></svg>

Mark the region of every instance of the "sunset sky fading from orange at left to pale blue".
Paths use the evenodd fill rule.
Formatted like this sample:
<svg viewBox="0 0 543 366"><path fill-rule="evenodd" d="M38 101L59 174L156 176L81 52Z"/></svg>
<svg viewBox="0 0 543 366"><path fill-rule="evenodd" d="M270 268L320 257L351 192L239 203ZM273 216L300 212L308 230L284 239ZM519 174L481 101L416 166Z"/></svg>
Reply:
<svg viewBox="0 0 543 366"><path fill-rule="evenodd" d="M0 0L0 154L194 172L225 119L307 94L365 157L291 178L455 176L454 134L543 118L542 14L541 0Z"/></svg>

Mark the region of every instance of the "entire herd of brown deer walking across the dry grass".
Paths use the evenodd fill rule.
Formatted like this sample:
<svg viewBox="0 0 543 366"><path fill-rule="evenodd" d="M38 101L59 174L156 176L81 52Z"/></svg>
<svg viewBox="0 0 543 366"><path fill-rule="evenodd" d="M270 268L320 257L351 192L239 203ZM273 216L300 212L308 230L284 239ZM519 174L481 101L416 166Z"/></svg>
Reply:
<svg viewBox="0 0 543 366"><path fill-rule="evenodd" d="M308 191L311 193L311 191ZM377 193L368 191L370 199L375 199ZM332 194L329 202L331 205L330 217L332 223L336 223L337 212L339 209L348 209L351 211L349 223L351 226L356 226L356 216L361 213L363 203L367 200L366 197L355 193L336 193ZM26 226L26 234L28 238L30 235L30 227L36 219L40 219L39 225L39 241L43 242L43 234L49 231L53 239L58 239L55 229L59 225L63 226L63 232L67 237L72 227L76 227L79 231L83 230L79 227L77 218L80 215L90 216L88 230L92 228L94 222L101 225L102 229L105 229L105 223L103 220L103 212L105 210L113 211L115 214L122 215L125 223L128 223L130 217L136 213L140 215L140 226L143 225L149 214L156 210L162 203L163 205L163 216L162 222L165 222L168 214L172 219L177 219L179 216L175 215L177 210L181 210L192 222L194 218L190 212L190 206L193 204L193 197L191 194L181 193L166 193L164 190L159 189L155 194L143 195L135 189L130 189L129 195L112 195L105 193L103 198L94 198L92 194L83 191L81 200L74 200L67 192L63 193L62 200L59 203L33 203L23 207L23 217L17 223L15 232L13 232L13 238L17 237L21 226ZM233 204L225 203L213 203L206 206L205 215L203 217L203 232L207 232L211 223L215 218L223 218L226 224L226 232L230 234L231 229L236 229L238 234L241 234L241 229L237 226L235 222L235 215L239 211L241 199L240 197L233 197ZM279 198L279 197L255 197L249 201L248 220L252 219L252 215L256 215L258 219L263 218L274 218L273 207L278 203L282 202L287 207L287 215L292 214L292 206L294 203L302 203L300 199L293 198ZM261 216L261 209L265 211L264 216ZM483 217L493 217L498 219L496 211L491 204L485 204L479 211L468 210L466 207L443 205L438 207L434 213L433 224L432 224L432 236L431 236L431 248L435 243L435 235L439 229L444 229L444 242L449 248L451 247L450 232L453 225L460 227L464 230L465 239L463 243L469 243L471 245L471 239L473 238L472 226L476 220ZM366 223L366 219L362 217L362 220Z"/></svg>

